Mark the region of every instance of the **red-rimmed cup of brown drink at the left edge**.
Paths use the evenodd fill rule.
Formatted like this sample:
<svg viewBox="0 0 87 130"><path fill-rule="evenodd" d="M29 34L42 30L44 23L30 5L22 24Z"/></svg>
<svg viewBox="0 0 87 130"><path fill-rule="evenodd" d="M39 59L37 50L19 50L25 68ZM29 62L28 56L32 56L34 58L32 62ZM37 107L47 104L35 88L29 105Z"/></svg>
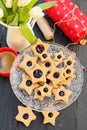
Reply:
<svg viewBox="0 0 87 130"><path fill-rule="evenodd" d="M0 48L0 75L9 77L11 65L18 53L12 48Z"/></svg>

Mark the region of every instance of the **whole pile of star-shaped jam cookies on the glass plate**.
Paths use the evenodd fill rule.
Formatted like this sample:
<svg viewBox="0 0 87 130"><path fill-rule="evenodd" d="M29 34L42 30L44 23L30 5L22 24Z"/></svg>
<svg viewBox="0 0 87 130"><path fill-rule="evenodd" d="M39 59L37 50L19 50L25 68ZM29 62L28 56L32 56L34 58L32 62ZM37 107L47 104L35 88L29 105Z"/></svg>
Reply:
<svg viewBox="0 0 87 130"><path fill-rule="evenodd" d="M71 86L75 76L75 60L65 56L63 50L51 55L50 44L40 39L30 46L33 56L24 55L19 68L24 70L18 88L28 95L34 93L34 99L43 101L54 96L55 103L68 104L72 91Z"/></svg>

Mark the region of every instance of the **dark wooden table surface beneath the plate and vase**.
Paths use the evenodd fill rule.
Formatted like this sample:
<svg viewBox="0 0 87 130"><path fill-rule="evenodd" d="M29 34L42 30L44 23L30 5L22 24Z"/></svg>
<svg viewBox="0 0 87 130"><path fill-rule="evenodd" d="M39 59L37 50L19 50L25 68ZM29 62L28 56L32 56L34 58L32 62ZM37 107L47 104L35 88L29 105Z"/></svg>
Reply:
<svg viewBox="0 0 87 130"><path fill-rule="evenodd" d="M43 0L39 0L43 2ZM73 0L82 11L87 14L87 0ZM53 22L46 17L53 27ZM38 29L37 25L34 27L35 34L37 37L45 41L43 35ZM0 46L4 47L6 45L6 28L0 25ZM67 45L71 41L64 35L64 33L56 27L55 41L62 45ZM74 45L71 47L79 57L82 65L87 66L86 50L87 44L84 46ZM12 92L9 78L0 76L0 130L87 130L87 73L84 72L84 85L82 92L72 105L61 111L60 116L56 119L56 126L53 127L50 124L43 125L43 117L41 113L35 112L37 115L37 120L32 122L31 125L26 128L22 123L15 120L17 115L17 106L23 105L16 98Z"/></svg>

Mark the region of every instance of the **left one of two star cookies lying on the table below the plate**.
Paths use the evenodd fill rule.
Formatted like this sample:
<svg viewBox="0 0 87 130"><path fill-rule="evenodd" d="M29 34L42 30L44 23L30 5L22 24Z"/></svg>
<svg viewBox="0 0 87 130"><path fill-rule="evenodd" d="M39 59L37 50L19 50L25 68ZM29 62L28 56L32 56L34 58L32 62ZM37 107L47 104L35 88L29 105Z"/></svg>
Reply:
<svg viewBox="0 0 87 130"><path fill-rule="evenodd" d="M31 108L18 106L18 115L15 119L28 127L33 120L36 120L36 115L32 112Z"/></svg>

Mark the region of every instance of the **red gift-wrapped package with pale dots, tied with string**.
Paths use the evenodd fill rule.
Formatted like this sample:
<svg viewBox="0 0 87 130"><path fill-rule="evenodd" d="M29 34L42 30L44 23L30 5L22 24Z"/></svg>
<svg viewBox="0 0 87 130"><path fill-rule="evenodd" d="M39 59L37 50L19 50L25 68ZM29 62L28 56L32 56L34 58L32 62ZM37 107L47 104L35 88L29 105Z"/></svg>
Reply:
<svg viewBox="0 0 87 130"><path fill-rule="evenodd" d="M79 42L87 35L87 16L71 0L57 0L46 13L73 42Z"/></svg>

